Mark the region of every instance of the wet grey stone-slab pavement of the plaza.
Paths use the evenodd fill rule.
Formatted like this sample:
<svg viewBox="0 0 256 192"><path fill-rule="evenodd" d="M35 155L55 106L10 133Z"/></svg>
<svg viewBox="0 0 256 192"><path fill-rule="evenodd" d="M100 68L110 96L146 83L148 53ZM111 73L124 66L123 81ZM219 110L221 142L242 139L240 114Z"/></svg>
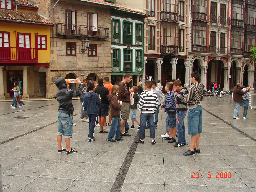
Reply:
<svg viewBox="0 0 256 192"><path fill-rule="evenodd" d="M11 102L0 103L0 164L3 184L11 186L4 192L256 191L254 95L255 106L248 109L246 120L233 119L232 98L204 97L200 154L194 156L182 155L189 147L189 135L184 147L160 137L165 133L163 111L155 145L150 143L149 130L145 143L135 144L136 129L121 142L107 143L107 134L99 134L99 127L96 141L88 142L89 123L80 121L79 100L73 103L76 126L71 146L76 154L57 153L56 100L25 101L25 107L17 109L9 107ZM109 126L104 129L109 131Z"/></svg>

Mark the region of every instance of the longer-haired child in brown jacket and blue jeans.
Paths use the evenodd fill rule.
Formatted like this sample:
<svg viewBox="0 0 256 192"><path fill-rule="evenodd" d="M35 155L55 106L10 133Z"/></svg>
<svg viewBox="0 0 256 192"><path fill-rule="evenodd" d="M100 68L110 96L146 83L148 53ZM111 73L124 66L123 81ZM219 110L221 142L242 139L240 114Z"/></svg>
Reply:
<svg viewBox="0 0 256 192"><path fill-rule="evenodd" d="M110 126L110 132L108 137L106 138L106 141L108 142L116 142L123 140L121 138L121 119L120 119L120 111L122 105L120 105L118 100L118 93L119 93L119 86L113 86L111 88L111 93L107 95L106 97L109 100L110 105L110 113L112 117L112 123ZM116 139L114 140L113 137L116 134Z"/></svg>

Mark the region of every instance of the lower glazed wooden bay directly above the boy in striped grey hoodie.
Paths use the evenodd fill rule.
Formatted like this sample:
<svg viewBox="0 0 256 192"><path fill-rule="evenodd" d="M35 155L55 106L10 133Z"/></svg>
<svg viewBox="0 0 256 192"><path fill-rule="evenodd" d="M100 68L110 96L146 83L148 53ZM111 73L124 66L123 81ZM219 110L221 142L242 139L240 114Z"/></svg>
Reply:
<svg viewBox="0 0 256 192"><path fill-rule="evenodd" d="M206 46L206 31L207 27L193 25L193 45L204 45Z"/></svg>

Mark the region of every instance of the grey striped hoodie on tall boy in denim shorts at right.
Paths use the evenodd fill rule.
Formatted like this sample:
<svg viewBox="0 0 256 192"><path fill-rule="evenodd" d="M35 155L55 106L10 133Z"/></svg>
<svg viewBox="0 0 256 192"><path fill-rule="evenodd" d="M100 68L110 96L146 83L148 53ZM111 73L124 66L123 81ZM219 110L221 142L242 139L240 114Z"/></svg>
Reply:
<svg viewBox="0 0 256 192"><path fill-rule="evenodd" d="M193 109L196 108L196 106L201 105L200 101L203 100L203 90L203 84L199 82L192 84L192 87L189 89L185 99L185 103L187 103L188 109Z"/></svg>

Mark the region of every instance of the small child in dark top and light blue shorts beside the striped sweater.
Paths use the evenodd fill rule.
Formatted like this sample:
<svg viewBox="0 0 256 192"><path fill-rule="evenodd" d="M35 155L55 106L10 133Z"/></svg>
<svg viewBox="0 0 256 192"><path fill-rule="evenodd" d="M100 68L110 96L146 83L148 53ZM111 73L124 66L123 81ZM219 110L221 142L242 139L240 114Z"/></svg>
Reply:
<svg viewBox="0 0 256 192"><path fill-rule="evenodd" d="M133 99L134 99L134 103L133 105L130 104L130 110L131 110L131 119L132 119L132 126L130 127L130 129L134 129L134 121L139 125L138 130L140 129L140 122L139 120L136 118L136 110L137 110L137 103L139 101L139 94L138 94L138 86L133 86L132 87L132 95L133 95Z"/></svg>

